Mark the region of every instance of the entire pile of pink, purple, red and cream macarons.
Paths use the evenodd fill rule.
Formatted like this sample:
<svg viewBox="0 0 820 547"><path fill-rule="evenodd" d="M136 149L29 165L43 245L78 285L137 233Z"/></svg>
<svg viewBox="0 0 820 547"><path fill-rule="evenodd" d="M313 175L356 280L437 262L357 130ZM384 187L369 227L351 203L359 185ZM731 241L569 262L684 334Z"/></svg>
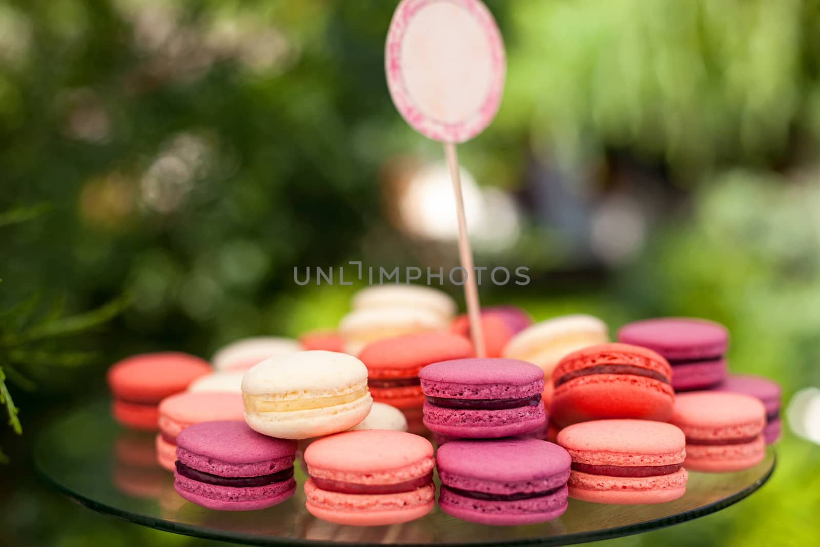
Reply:
<svg viewBox="0 0 820 547"><path fill-rule="evenodd" d="M157 461L195 504L279 504L299 458L307 510L355 526L429 513L434 468L442 511L471 522L544 522L567 498L663 503L684 495L687 470L754 466L779 435L779 387L727 377L727 330L712 321L637 321L609 343L592 316L532 324L487 308L490 357L476 358L455 310L436 289L377 287L356 294L338 333L239 340L213 367L125 359L108 373L113 413L159 429ZM557 444L543 440L548 417ZM427 430L435 454L413 434Z"/></svg>

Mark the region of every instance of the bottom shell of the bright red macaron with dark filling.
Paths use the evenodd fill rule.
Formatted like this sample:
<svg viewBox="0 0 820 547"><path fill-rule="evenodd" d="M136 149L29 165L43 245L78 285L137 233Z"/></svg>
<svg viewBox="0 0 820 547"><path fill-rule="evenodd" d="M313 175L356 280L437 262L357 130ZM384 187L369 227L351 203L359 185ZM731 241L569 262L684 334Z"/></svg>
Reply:
<svg viewBox="0 0 820 547"><path fill-rule="evenodd" d="M594 374L559 385L549 417L560 427L603 418L667 422L674 401L672 386L661 381L627 374Z"/></svg>

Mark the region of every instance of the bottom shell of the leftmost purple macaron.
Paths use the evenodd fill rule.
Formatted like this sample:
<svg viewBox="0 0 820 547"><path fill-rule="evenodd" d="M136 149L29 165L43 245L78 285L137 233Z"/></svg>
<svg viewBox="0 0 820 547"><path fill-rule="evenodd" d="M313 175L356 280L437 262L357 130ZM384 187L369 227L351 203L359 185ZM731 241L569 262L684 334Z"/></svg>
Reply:
<svg viewBox="0 0 820 547"><path fill-rule="evenodd" d="M193 481L175 473L174 490L189 502L216 511L253 511L289 499L296 491L296 481L291 478L271 485L234 488Z"/></svg>

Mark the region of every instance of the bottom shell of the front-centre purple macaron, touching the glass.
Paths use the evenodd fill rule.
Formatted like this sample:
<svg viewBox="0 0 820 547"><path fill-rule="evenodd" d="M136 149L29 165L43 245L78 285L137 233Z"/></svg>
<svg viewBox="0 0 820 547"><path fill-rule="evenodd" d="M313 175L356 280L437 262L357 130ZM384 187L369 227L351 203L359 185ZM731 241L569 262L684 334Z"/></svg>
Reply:
<svg viewBox="0 0 820 547"><path fill-rule="evenodd" d="M517 501L490 501L467 498L442 487L439 506L451 517L494 526L519 526L546 522L567 510L567 486L551 495Z"/></svg>

